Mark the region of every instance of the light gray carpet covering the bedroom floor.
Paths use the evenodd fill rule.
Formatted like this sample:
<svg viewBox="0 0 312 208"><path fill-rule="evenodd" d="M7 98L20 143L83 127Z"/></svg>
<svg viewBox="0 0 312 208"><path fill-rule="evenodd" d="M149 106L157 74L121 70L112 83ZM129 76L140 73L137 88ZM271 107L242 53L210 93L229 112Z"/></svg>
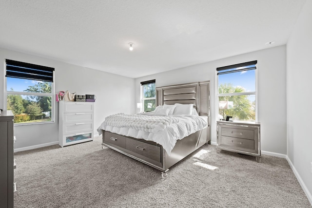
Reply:
<svg viewBox="0 0 312 208"><path fill-rule="evenodd" d="M312 207L286 159L263 155L257 163L248 155L216 153L213 145L176 164L166 180L159 170L101 149L100 137L15 158L16 208Z"/></svg>

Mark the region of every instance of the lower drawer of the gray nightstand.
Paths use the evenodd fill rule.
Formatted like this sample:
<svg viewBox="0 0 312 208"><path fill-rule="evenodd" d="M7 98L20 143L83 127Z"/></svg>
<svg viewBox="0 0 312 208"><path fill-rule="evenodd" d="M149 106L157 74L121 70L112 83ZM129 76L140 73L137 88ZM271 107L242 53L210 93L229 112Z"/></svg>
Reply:
<svg viewBox="0 0 312 208"><path fill-rule="evenodd" d="M219 145L230 148L248 149L248 151L254 150L254 140L240 139L235 137L222 136Z"/></svg>

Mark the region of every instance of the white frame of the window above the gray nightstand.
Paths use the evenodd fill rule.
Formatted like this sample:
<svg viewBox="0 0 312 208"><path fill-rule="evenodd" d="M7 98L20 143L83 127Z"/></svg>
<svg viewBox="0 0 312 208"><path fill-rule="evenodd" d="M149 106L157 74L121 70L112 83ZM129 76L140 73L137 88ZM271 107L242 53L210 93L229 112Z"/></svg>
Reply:
<svg viewBox="0 0 312 208"><path fill-rule="evenodd" d="M242 67L242 66L250 66L250 65L255 65L255 91L254 92L242 92L242 93L224 93L224 94L219 94L219 78L218 78L218 71L221 71L222 68L224 69L231 69L231 68L238 68L238 67ZM218 70L219 69L219 70ZM221 70L220 70L221 69ZM243 70L241 70L243 71ZM230 73L235 73L235 72L239 72L239 71L233 71ZM229 74L229 73L227 73ZM216 93L215 93L215 106L216 106L216 110L215 110L215 117L216 117L216 121L219 120L219 97L223 97L223 96L239 96L239 95L254 95L255 96L255 105L254 105L254 111L255 111L255 118L254 118L254 122L258 121L258 85L257 85L257 74L258 74L258 65L257 65L257 60L255 61L249 61L249 62L245 62L245 63L239 63L239 64L234 64L234 65L230 65L230 66L225 66L225 67L220 67L217 68L216 72L215 72L215 77L216 77ZM223 118L225 119L225 118ZM245 121L245 120L235 120L238 122L250 122L250 121Z"/></svg>

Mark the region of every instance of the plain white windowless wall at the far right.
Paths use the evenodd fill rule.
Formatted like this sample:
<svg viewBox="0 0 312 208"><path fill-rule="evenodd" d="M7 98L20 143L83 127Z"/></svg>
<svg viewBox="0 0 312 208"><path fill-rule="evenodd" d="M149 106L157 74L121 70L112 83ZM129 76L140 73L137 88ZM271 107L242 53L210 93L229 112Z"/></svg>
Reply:
<svg viewBox="0 0 312 208"><path fill-rule="evenodd" d="M312 1L307 0L287 43L287 154L312 203Z"/></svg>

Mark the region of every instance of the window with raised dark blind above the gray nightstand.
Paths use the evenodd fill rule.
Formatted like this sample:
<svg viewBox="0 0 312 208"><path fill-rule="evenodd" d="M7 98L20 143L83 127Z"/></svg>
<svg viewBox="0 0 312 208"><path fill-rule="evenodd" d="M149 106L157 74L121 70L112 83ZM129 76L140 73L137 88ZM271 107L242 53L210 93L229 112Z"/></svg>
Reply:
<svg viewBox="0 0 312 208"><path fill-rule="evenodd" d="M218 118L256 121L257 61L217 68Z"/></svg>

